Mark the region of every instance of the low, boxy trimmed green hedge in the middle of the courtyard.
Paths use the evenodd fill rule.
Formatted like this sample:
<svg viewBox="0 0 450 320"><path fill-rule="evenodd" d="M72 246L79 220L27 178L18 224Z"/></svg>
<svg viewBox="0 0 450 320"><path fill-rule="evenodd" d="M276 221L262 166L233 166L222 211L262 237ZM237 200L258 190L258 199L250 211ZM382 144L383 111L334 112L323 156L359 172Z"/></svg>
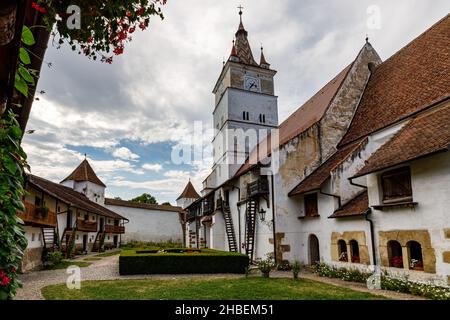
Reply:
<svg viewBox="0 0 450 320"><path fill-rule="evenodd" d="M210 249L126 250L120 254L119 273L190 274L245 273L248 256ZM140 252L140 253L139 253Z"/></svg>

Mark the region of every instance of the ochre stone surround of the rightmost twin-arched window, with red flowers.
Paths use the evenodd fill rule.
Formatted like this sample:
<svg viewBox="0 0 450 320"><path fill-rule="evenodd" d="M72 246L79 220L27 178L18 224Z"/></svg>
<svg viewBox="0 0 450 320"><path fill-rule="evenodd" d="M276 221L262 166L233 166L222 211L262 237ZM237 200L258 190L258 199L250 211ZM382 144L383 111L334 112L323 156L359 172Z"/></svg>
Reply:
<svg viewBox="0 0 450 320"><path fill-rule="evenodd" d="M408 242L416 241L422 248L423 271L436 273L436 255L431 246L428 230L392 230L379 232L381 265L389 267L389 254L387 243L391 240L398 241L402 246L403 266L409 269Z"/></svg>

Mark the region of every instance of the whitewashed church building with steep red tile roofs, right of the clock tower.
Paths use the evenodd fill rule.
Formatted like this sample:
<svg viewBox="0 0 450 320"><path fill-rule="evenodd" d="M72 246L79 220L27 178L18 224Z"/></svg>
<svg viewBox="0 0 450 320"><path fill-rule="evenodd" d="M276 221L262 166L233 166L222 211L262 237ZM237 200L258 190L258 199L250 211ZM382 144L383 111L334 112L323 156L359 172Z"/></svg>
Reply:
<svg viewBox="0 0 450 320"><path fill-rule="evenodd" d="M278 126L278 137L268 139L277 139L275 147L260 143L270 151L251 152L228 180L208 177L202 198L187 207L189 230L205 237L191 246L253 259L272 253L278 263L375 264L446 283L448 43L449 15L384 62L366 41ZM246 90L250 67L233 58L235 50L227 64L241 68L241 80L225 92Z"/></svg>

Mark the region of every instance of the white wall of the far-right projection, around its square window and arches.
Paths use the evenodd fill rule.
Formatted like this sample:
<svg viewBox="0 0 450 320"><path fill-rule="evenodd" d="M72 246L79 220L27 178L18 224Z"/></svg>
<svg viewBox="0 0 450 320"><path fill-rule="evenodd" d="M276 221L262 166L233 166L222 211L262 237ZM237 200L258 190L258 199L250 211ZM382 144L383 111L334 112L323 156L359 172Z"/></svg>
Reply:
<svg viewBox="0 0 450 320"><path fill-rule="evenodd" d="M419 237L417 230L427 231L436 260L436 276L443 280L450 274L450 264L443 260L443 253L450 251L450 240L445 236L445 229L450 228L450 153L441 153L423 159L406 163L411 168L411 184L413 201L418 205L414 208L392 208L389 210L373 210L377 239L380 231L410 230L412 236ZM401 166L399 166L401 167ZM367 176L370 206L378 205L382 199L379 184L379 173ZM377 254L380 254L378 243ZM434 252L433 252L434 251ZM394 271L396 268L390 268ZM433 274L410 271L416 277L434 278Z"/></svg>

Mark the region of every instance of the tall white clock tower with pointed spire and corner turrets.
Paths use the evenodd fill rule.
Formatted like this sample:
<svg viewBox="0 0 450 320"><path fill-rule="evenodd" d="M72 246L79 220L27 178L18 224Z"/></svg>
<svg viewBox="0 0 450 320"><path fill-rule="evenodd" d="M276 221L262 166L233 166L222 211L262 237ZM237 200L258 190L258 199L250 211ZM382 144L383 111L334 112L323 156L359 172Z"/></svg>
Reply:
<svg viewBox="0 0 450 320"><path fill-rule="evenodd" d="M213 90L214 164L203 185L206 191L230 179L258 141L278 127L276 71L270 68L262 47L260 62L255 61L242 23L242 10L239 16L230 57Z"/></svg>

